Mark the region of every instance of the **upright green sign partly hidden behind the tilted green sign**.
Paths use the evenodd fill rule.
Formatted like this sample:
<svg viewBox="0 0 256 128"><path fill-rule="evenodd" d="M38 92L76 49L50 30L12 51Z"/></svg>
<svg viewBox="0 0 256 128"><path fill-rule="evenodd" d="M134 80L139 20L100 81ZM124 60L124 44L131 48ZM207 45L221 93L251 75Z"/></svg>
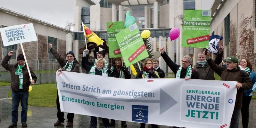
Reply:
<svg viewBox="0 0 256 128"><path fill-rule="evenodd" d="M124 21L107 22L109 57L122 57L115 34L125 29Z"/></svg>

